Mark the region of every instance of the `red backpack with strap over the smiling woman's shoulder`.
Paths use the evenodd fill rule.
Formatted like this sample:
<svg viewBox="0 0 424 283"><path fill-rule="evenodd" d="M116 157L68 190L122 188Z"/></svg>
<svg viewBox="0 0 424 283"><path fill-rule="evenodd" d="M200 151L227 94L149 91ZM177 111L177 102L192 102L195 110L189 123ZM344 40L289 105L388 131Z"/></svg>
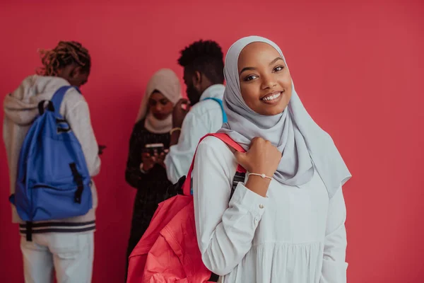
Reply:
<svg viewBox="0 0 424 283"><path fill-rule="evenodd" d="M236 151L245 152L227 134L207 134L205 137L208 136L217 137ZM183 195L171 197L158 205L146 233L129 256L126 283L216 282L217 276L201 260L196 238L194 203L190 192L194 158L185 181L182 178L175 184L182 187ZM237 182L245 180L245 173L239 165L232 192Z"/></svg>

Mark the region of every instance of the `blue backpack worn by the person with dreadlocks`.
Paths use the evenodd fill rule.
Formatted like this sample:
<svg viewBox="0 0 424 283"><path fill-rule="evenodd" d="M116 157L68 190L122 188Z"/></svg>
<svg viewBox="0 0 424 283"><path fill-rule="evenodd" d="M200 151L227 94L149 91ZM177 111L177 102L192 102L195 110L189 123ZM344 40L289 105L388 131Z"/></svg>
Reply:
<svg viewBox="0 0 424 283"><path fill-rule="evenodd" d="M59 88L47 108L46 100L39 103L40 115L20 149L16 190L10 201L20 219L27 222L28 241L33 221L81 216L93 207L91 179L81 144L59 114L69 88L73 86Z"/></svg>

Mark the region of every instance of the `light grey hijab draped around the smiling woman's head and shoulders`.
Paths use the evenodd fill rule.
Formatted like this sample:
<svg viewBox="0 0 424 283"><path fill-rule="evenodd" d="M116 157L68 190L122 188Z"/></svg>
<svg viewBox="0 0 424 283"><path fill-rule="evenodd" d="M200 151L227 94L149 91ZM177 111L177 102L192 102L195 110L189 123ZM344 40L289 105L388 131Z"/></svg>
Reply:
<svg viewBox="0 0 424 283"><path fill-rule="evenodd" d="M259 115L243 100L237 62L240 52L252 42L271 45L285 62L280 47L264 37L244 37L230 47L225 57L224 75L227 86L223 101L228 122L219 132L227 133L246 150L254 137L271 141L283 154L273 178L285 185L303 185L312 179L314 170L317 170L329 197L332 197L351 178L351 173L329 134L312 120L302 105L294 83L292 82L290 103L278 115Z"/></svg>

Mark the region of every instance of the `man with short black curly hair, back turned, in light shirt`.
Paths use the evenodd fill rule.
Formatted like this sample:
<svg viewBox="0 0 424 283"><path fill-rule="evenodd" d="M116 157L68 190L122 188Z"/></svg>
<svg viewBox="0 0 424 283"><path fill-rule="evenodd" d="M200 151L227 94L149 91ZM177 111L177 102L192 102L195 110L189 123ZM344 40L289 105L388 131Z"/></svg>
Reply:
<svg viewBox="0 0 424 283"><path fill-rule="evenodd" d="M223 110L211 98L222 100L225 90L223 52L218 43L192 43L181 51L178 64L184 68L189 101L179 100L172 113L171 146L165 158L167 177L172 183L189 171L199 139L223 125Z"/></svg>

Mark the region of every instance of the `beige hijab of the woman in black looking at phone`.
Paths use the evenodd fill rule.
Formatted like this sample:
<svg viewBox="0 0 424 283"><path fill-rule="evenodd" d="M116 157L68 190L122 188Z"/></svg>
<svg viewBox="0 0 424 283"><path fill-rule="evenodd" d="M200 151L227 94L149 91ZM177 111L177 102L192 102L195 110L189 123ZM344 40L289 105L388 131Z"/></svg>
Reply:
<svg viewBox="0 0 424 283"><path fill-rule="evenodd" d="M143 96L143 100L141 100L139 114L136 119L136 122L144 119L144 127L149 132L165 134L172 129L172 115L169 115L165 120L158 120L148 111L148 99L154 91L159 91L175 105L182 98L181 84L175 72L171 69L160 69L153 74L147 83L146 93Z"/></svg>

